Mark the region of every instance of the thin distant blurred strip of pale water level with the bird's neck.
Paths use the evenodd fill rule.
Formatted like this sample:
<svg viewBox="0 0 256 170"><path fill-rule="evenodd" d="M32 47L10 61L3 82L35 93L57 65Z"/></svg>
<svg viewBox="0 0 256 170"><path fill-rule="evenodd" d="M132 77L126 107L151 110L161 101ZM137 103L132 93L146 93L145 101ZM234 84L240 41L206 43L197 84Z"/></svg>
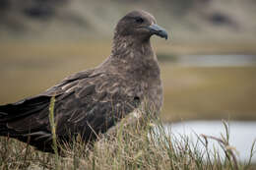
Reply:
<svg viewBox="0 0 256 170"><path fill-rule="evenodd" d="M241 67L256 66L255 55L181 55L175 64L193 67Z"/></svg>

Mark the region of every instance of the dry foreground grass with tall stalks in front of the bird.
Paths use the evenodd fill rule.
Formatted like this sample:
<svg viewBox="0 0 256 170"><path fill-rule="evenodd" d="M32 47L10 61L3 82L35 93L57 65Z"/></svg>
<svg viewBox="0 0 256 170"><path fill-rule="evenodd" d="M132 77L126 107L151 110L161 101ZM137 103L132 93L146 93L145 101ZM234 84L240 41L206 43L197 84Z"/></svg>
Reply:
<svg viewBox="0 0 256 170"><path fill-rule="evenodd" d="M1 169L252 169L251 162L246 164L236 160L236 153L228 144L228 126L225 136L198 137L206 151L191 144L189 138L181 140L166 132L160 119L149 110L142 110L143 116L136 124L129 124L131 117L122 120L110 133L99 135L94 145L88 145L78 136L75 142L58 145L54 123L54 98L50 104L54 154L37 151L26 143L8 138L0 138ZM133 116L133 115L131 115ZM136 117L137 119L138 117ZM154 119L153 119L154 118ZM55 140L54 140L55 139ZM220 152L207 149L209 140L222 144L225 157ZM54 142L55 141L55 142ZM254 152L252 145L251 156ZM207 155L207 156L206 156ZM25 159L26 157L26 159ZM207 158L205 158L207 157Z"/></svg>

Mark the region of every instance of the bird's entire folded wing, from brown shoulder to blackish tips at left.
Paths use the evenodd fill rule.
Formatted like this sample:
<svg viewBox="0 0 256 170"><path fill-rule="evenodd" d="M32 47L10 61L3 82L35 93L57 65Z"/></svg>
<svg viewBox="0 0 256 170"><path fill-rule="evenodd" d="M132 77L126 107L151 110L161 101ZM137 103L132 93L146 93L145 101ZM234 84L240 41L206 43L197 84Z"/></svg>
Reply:
<svg viewBox="0 0 256 170"><path fill-rule="evenodd" d="M139 85L126 80L118 74L93 71L73 75L35 97L0 106L0 125L16 135L50 138L48 107L55 96L56 134L78 133L88 140L138 107Z"/></svg>

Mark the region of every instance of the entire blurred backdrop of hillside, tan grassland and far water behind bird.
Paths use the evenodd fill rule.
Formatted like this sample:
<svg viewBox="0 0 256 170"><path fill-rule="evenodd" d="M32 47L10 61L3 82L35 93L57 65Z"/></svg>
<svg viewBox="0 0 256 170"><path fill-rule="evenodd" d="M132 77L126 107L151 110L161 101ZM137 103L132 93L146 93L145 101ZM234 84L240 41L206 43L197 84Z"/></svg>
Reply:
<svg viewBox="0 0 256 170"><path fill-rule="evenodd" d="M162 120L256 120L255 0L0 0L0 104L98 65L134 9L170 35L152 38Z"/></svg>

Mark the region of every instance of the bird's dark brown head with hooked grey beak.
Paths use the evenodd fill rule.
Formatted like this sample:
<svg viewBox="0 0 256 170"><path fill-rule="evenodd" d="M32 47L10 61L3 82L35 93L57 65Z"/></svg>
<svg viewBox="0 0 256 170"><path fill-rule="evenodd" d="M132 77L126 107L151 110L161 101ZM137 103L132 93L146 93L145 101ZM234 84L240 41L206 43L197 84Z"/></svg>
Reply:
<svg viewBox="0 0 256 170"><path fill-rule="evenodd" d="M167 39L168 34L164 28L157 25L157 21L150 13L145 11L132 11L124 16L115 28L119 36L136 37L147 40L154 34Z"/></svg>

